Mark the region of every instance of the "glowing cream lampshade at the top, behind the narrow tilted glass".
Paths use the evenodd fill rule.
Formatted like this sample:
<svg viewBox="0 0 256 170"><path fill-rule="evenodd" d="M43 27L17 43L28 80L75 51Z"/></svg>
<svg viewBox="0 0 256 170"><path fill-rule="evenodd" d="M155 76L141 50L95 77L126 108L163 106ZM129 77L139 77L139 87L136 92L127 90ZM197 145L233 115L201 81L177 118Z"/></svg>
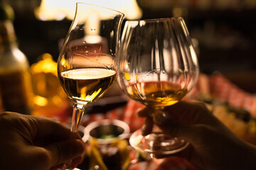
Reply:
<svg viewBox="0 0 256 170"><path fill-rule="evenodd" d="M136 0L42 0L41 5L35 9L36 18L41 21L60 21L64 18L73 20L76 2L112 8L124 13L125 18L129 20L142 17L142 10L139 8Z"/></svg>

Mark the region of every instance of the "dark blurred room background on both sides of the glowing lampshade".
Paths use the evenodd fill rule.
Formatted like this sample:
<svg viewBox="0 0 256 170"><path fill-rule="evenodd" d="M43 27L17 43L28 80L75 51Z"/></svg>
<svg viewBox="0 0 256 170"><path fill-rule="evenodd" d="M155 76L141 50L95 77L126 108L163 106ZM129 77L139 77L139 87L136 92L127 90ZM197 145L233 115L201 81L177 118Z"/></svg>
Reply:
<svg viewBox="0 0 256 170"><path fill-rule="evenodd" d="M53 0L54 1L54 0ZM142 18L183 16L191 33L198 41L196 47L201 72L220 72L245 91L256 89L256 3L255 0L222 0L223 4L201 0L168 1L137 0ZM38 21L33 9L40 0L9 0L16 18L14 28L19 47L30 64L45 52L58 58L59 44L68 32L71 21ZM250 4L250 2L252 4ZM228 5L227 5L228 4Z"/></svg>

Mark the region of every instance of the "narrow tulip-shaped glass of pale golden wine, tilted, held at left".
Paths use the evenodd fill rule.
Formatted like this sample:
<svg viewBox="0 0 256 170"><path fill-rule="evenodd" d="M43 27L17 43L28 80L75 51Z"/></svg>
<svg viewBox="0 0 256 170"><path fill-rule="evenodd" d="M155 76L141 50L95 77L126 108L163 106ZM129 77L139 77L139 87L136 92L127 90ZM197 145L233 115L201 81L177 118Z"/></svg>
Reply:
<svg viewBox="0 0 256 170"><path fill-rule="evenodd" d="M123 13L110 8L76 4L58 57L60 84L74 103L71 131L78 130L87 104L104 95L114 83L123 18Z"/></svg>

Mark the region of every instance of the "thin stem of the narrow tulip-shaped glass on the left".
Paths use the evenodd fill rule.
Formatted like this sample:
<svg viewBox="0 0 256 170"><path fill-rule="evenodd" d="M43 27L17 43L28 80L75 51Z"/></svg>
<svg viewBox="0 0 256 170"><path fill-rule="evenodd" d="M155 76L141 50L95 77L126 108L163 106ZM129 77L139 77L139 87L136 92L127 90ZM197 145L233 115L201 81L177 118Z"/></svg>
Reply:
<svg viewBox="0 0 256 170"><path fill-rule="evenodd" d="M71 123L71 131L78 131L82 115L85 113L87 104L75 103L73 106L73 117Z"/></svg>

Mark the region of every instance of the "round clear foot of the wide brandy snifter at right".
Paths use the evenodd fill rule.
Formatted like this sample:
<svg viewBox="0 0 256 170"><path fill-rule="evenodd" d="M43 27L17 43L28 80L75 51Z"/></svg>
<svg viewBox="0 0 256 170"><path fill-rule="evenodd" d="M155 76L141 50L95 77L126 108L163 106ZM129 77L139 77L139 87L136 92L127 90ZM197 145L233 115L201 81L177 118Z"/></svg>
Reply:
<svg viewBox="0 0 256 170"><path fill-rule="evenodd" d="M129 143L140 152L149 154L175 154L188 146L185 140L163 133L151 133L144 137L142 130L135 131L129 138Z"/></svg>

